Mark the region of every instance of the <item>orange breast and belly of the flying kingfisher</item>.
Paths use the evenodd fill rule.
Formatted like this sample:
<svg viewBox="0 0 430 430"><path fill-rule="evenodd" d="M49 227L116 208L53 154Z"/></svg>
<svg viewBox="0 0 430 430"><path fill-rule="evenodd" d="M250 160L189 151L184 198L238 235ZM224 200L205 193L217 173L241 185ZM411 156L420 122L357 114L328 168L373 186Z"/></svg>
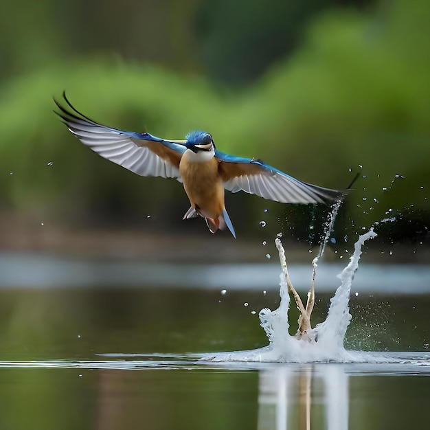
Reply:
<svg viewBox="0 0 430 430"><path fill-rule="evenodd" d="M187 152L182 156L179 172L183 188L191 205L199 214L208 218L218 218L225 209L223 181L218 174L218 160L204 162L191 161Z"/></svg>

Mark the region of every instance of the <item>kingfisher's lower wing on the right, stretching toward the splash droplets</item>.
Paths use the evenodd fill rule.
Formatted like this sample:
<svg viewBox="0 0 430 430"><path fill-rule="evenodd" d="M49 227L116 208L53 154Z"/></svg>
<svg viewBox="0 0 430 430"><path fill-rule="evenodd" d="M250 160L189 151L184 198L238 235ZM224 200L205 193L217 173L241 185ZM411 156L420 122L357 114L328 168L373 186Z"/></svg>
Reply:
<svg viewBox="0 0 430 430"><path fill-rule="evenodd" d="M347 190L330 190L299 181L260 160L234 157L216 150L224 188L257 194L280 203L328 203L341 199Z"/></svg>

